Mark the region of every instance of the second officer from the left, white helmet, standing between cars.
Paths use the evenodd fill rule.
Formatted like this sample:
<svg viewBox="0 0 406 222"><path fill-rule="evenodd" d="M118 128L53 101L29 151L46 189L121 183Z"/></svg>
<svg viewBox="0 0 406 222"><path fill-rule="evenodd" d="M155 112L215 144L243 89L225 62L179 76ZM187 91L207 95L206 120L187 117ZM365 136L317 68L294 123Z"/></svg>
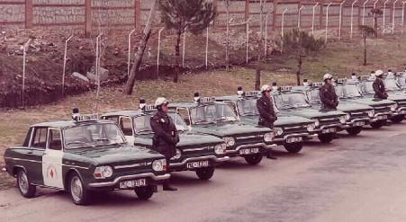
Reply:
<svg viewBox="0 0 406 222"><path fill-rule="evenodd" d="M274 128L274 122L277 120L276 112L274 110L274 104L272 102L271 92L273 88L268 84L264 84L261 87L262 96L257 100L257 110L259 112L258 125L264 126L270 129ZM272 155L272 150L269 149L266 158L276 159Z"/></svg>

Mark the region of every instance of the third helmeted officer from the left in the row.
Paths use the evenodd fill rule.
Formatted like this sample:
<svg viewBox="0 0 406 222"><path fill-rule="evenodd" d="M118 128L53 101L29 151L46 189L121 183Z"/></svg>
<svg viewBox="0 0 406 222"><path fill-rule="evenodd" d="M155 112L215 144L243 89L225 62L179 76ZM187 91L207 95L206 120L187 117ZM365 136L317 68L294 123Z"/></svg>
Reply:
<svg viewBox="0 0 406 222"><path fill-rule="evenodd" d="M337 110L338 97L332 84L333 76L326 74L323 76L324 84L320 87L321 109Z"/></svg>

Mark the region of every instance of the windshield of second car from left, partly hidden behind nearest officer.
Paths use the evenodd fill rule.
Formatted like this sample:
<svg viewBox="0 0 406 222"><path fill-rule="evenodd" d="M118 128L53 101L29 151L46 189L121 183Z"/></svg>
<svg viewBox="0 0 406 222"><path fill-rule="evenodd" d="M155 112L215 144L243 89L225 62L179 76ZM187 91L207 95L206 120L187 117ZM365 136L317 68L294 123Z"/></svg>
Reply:
<svg viewBox="0 0 406 222"><path fill-rule="evenodd" d="M152 128L150 124L150 120L153 114L148 114L148 115L143 115L143 116L138 116L134 118L134 125L135 125L135 132L136 133L152 133ZM182 117L176 113L176 112L170 112L168 113L168 116L174 120L176 129L179 131L185 131L187 130L187 125L185 123L185 120L182 119Z"/></svg>

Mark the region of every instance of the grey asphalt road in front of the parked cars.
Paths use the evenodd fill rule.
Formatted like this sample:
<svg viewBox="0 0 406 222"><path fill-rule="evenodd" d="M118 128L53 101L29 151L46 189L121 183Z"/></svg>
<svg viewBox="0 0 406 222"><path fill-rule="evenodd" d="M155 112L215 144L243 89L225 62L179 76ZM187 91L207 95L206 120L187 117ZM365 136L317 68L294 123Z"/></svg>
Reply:
<svg viewBox="0 0 406 222"><path fill-rule="evenodd" d="M179 191L149 201L117 191L80 207L61 191L0 191L0 221L406 221L406 123L277 150L257 166L224 164L210 182L174 173Z"/></svg>

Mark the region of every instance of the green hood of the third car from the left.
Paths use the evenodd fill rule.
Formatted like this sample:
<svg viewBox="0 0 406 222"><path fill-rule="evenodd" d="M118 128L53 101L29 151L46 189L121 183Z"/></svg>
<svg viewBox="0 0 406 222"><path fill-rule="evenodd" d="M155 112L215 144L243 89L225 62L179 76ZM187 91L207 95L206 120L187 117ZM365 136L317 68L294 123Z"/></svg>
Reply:
<svg viewBox="0 0 406 222"><path fill-rule="evenodd" d="M272 131L269 128L248 125L241 122L195 125L193 128L195 131L217 137L228 137L239 134L258 134Z"/></svg>

